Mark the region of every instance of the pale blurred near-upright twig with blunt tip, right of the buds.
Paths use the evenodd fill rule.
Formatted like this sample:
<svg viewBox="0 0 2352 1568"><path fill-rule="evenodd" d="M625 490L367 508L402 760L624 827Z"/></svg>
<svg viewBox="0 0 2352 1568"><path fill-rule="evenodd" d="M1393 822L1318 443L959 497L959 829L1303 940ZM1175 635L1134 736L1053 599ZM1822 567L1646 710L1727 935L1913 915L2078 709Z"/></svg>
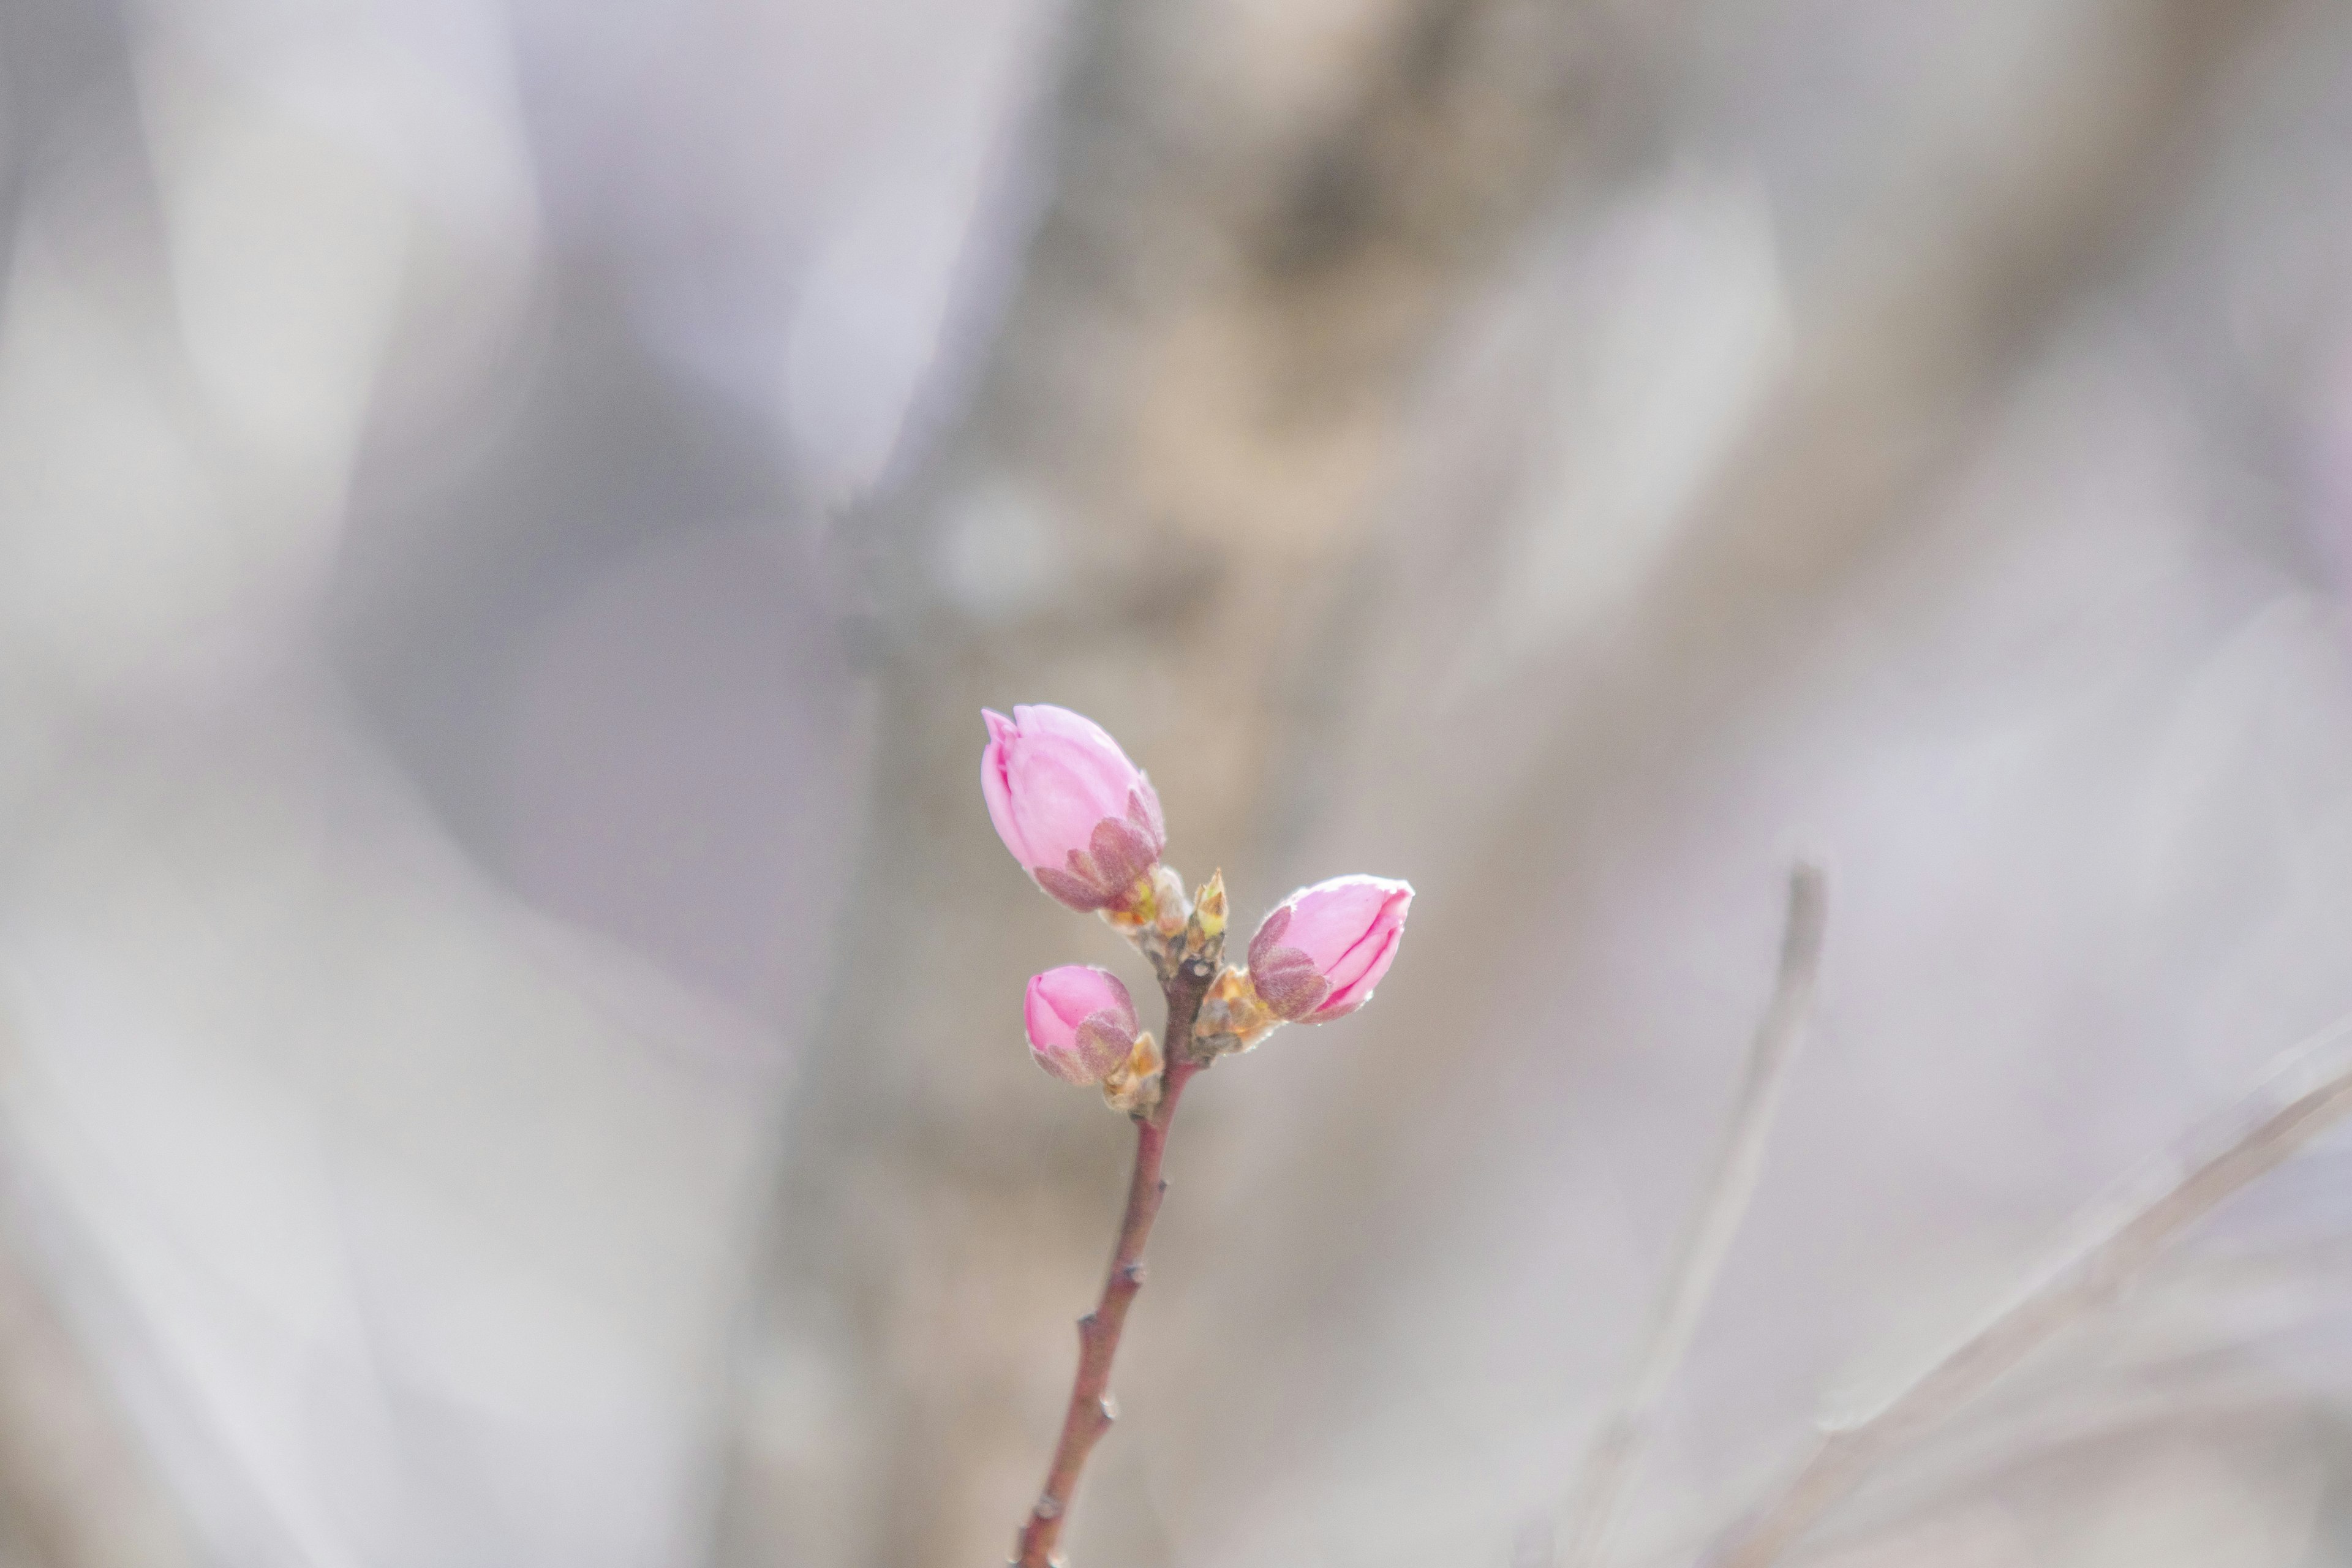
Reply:
<svg viewBox="0 0 2352 1568"><path fill-rule="evenodd" d="M1755 1044L1748 1048L1748 1072L1740 1079L1738 1100L1731 1105L1715 1171L1700 1190L1698 1208L1691 1213L1665 1286L1658 1291L1642 1359L1635 1361L1625 1392L1585 1455L1576 1526L1569 1535L1566 1561L1571 1568L1592 1568L1602 1561L1618 1497L1649 1443L1658 1396L1682 1366L1698 1316L1705 1312L1724 1258L1731 1253L1731 1241L1738 1237L1740 1220L1748 1218L1748 1204L1755 1199L1764 1168L1764 1143L1780 1105L1780 1086L1797 1060L1804 1020L1813 1009L1813 978L1820 971L1825 922L1828 893L1820 867L1797 865L1788 877L1780 980L1773 987L1771 1006L1764 1009L1764 1020L1757 1025Z"/></svg>

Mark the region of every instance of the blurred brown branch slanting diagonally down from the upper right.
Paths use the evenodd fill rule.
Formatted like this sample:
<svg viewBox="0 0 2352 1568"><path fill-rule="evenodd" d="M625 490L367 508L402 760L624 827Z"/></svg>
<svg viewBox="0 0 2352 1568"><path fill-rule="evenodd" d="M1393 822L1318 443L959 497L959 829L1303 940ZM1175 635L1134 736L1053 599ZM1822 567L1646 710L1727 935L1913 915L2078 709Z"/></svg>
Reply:
<svg viewBox="0 0 2352 1568"><path fill-rule="evenodd" d="M1621 870L1639 886L1642 875L1625 867L1672 853L1689 802L1658 780L1719 764L1726 748L1750 743L1752 715L1795 701L1790 689L1820 658L1820 616L1905 548L1905 531L1985 440L2044 336L2093 308L2159 214L2185 200L2176 181L2211 153L2218 94L2281 9L2093 7L2053 28L2046 73L1990 129L1973 179L1886 235L1860 277L1809 301L1818 320L1795 362L1663 531L1639 592L1590 644L1566 637L1479 701L1432 712L1425 670L1439 649L1477 639L1494 599L1463 595L1458 618L1432 623L1432 571L1418 571L1397 585L1395 604L1399 618L1404 609L1430 618L1421 637L1392 635L1381 614L1348 623L1376 675L1359 679L1369 712L1355 715L1355 748L1336 766L1385 778L1383 748L1414 736L1423 766L1399 776L1392 795L1367 785L1362 813L1378 820L1432 788L1477 802L1446 846L1463 856L1449 875L1477 898L1423 931L1421 952L1449 985L1395 997L1357 1072L1334 1084L1312 1124L1284 1128L1291 1166L1317 1171L1317 1192L1348 1194L1336 1199L1345 1213L1442 1211L1437 1192L1446 1190L1428 1182L1444 1182L1449 1166L1435 1150L1409 1154L1411 1126L1397 1126L1392 1107L1446 1103L1449 1086L1482 1063L1428 1041L1461 1039L1463 997L1512 994L1512 976L1609 945L1616 900L1564 898L1562 889ZM1442 489L1414 496L1418 515L1456 505L1477 515L1482 501L1472 494L1461 505ZM1458 512L1451 524L1465 527ZM1517 717L1538 712L1541 724L1517 729ZM1498 1048L1510 1039L1501 1023L1470 1032ZM1477 1201L1468 1180L1454 1201ZM1282 1260L1279 1286L1228 1305L1279 1314L1289 1328L1268 1335L1270 1359L1221 1373L1242 1401L1277 1387L1272 1356L1308 1354L1315 1326L1341 1302L1397 1284L1385 1253L1298 1241L1334 1222L1312 1206L1282 1220L1296 1255ZM1251 1406L1249 1418L1225 1420L1249 1429L1272 1425L1277 1410ZM1237 1460L1221 1474L1240 1469Z"/></svg>

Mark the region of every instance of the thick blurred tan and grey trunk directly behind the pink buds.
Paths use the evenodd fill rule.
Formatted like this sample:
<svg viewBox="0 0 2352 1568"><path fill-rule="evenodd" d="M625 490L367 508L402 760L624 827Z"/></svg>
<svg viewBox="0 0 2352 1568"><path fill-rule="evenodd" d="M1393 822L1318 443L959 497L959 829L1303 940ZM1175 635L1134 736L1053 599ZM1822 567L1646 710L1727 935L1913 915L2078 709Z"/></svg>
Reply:
<svg viewBox="0 0 2352 1568"><path fill-rule="evenodd" d="M1270 672L1376 515L1406 383L1618 92L1595 33L1515 0L1073 19L1054 197L974 404L851 534L877 832L818 1034L854 1046L790 1112L727 1561L1000 1549L1051 1408L1035 1324L1091 1269L1115 1154L1040 1121L1016 1056L946 1048L971 1030L941 978L1016 978L1042 931L971 830L976 715L1087 710L1150 757L1171 853L1232 863L1279 745ZM811 1363L821 1415L788 1371Z"/></svg>

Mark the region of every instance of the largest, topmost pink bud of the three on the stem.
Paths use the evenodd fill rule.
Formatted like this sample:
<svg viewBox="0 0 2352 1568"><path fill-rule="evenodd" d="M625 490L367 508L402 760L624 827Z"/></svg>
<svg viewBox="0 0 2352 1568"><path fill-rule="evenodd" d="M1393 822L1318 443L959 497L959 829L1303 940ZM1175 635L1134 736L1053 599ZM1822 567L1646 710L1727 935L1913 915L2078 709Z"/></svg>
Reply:
<svg viewBox="0 0 2352 1568"><path fill-rule="evenodd" d="M1094 719L1044 703L981 710L981 795L1004 849L1073 910L1110 910L1160 865L1160 797Z"/></svg>

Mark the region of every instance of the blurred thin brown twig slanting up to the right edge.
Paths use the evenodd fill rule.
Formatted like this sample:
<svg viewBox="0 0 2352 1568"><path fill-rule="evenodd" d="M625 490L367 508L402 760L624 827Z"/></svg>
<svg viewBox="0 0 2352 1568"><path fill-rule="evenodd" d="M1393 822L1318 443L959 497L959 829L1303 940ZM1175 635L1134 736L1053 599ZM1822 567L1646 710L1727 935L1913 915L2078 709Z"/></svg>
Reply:
<svg viewBox="0 0 2352 1568"><path fill-rule="evenodd" d="M1703 1559L1766 1568L1882 1458L1952 1418L2034 1349L2119 1295L2171 1241L2352 1114L2352 1018L2298 1046L2093 1215L2089 1237L1875 1410L1828 1432L1795 1476Z"/></svg>

